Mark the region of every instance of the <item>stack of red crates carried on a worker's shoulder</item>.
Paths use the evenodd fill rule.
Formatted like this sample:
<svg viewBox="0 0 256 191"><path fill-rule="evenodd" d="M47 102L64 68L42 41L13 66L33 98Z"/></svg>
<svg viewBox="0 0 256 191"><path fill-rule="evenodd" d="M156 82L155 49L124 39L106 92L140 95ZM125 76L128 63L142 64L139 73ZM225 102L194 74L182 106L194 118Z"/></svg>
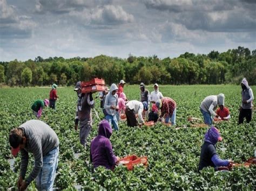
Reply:
<svg viewBox="0 0 256 191"><path fill-rule="evenodd" d="M105 81L96 77L88 82L81 82L81 87L83 94L96 91L104 91Z"/></svg>

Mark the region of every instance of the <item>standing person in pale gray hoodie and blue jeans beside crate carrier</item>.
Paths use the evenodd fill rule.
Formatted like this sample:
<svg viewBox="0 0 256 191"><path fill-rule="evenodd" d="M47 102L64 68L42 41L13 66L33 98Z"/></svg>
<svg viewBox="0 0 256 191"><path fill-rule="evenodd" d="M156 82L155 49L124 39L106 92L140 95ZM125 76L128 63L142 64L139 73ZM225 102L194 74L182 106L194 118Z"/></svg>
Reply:
<svg viewBox="0 0 256 191"><path fill-rule="evenodd" d="M106 95L104 109L107 112L105 119L113 125L114 130L118 130L116 112L118 111L117 85L112 84L109 93Z"/></svg>

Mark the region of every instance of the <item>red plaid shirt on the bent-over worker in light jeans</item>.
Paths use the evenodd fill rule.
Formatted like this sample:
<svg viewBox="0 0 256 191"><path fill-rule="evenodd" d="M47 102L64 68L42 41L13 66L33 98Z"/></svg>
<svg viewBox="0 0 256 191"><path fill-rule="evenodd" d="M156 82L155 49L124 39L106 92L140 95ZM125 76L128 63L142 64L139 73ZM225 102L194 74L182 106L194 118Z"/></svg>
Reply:
<svg viewBox="0 0 256 191"><path fill-rule="evenodd" d="M176 108L176 102L170 97L161 98L162 107L160 117L172 116L174 109Z"/></svg>

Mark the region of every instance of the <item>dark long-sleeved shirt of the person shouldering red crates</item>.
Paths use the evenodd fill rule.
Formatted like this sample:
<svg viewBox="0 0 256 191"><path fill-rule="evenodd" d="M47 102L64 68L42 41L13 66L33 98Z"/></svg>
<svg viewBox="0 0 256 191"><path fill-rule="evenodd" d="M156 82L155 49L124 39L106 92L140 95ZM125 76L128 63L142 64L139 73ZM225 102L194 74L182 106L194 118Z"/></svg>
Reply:
<svg viewBox="0 0 256 191"><path fill-rule="evenodd" d="M90 124L92 126L91 108L94 107L94 100L90 98L90 94L83 94L78 97L75 124L80 122L80 126Z"/></svg>

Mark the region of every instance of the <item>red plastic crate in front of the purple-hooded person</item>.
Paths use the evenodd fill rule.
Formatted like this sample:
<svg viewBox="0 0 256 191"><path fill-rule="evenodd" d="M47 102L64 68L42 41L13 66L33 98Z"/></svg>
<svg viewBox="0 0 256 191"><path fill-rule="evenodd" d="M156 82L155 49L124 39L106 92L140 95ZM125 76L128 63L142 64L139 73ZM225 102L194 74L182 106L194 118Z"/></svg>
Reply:
<svg viewBox="0 0 256 191"><path fill-rule="evenodd" d="M119 163L125 165L126 168L131 171L133 167L138 164L143 164L146 167L147 157L137 157L136 155L130 155L120 159Z"/></svg>

